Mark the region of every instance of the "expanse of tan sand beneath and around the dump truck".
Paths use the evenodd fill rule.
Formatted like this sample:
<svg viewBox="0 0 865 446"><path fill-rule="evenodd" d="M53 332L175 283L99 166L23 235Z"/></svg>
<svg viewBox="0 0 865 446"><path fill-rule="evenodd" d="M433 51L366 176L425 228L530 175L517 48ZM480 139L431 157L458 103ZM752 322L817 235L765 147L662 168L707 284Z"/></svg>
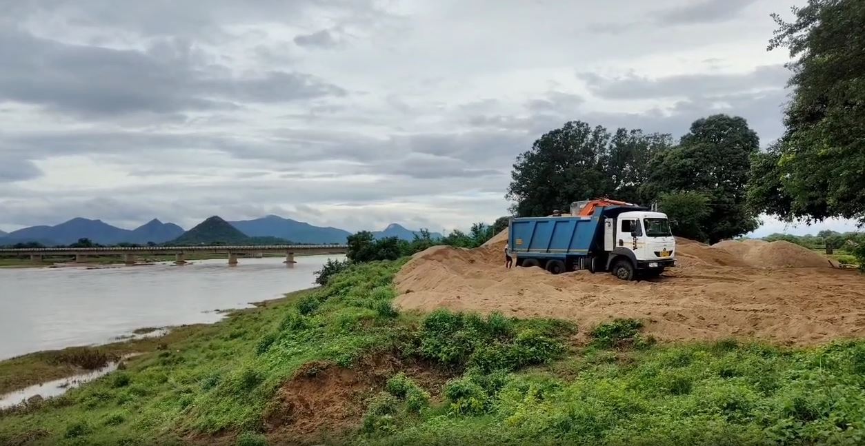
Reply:
<svg viewBox="0 0 865 446"><path fill-rule="evenodd" d="M734 336L808 345L865 335L865 276L787 242L680 239L679 266L650 281L623 282L607 273L505 270L506 239L416 254L395 279L397 305L556 317L582 328L632 317L662 341Z"/></svg>

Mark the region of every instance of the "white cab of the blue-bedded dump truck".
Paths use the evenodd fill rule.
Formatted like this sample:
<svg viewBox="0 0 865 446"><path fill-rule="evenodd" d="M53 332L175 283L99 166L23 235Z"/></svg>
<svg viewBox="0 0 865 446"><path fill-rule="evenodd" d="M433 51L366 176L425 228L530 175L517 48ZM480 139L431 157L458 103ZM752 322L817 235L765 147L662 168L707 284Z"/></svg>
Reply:
<svg viewBox="0 0 865 446"><path fill-rule="evenodd" d="M676 239L670 232L667 214L650 211L619 213L604 223L604 251L612 272L615 258L630 258L638 271L657 275L676 263ZM624 278L624 277L623 277Z"/></svg>

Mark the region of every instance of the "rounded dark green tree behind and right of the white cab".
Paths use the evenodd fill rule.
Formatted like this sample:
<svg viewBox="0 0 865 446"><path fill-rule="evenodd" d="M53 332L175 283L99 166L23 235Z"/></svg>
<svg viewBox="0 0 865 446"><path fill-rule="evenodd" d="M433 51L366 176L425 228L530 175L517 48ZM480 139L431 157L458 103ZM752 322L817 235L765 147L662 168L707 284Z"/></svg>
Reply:
<svg viewBox="0 0 865 446"><path fill-rule="evenodd" d="M694 192L708 199L708 213L699 233L714 243L759 226L746 206L746 183L759 137L744 118L714 115L698 119L675 148L663 150L650 166L649 181L641 188L647 201L662 194Z"/></svg>

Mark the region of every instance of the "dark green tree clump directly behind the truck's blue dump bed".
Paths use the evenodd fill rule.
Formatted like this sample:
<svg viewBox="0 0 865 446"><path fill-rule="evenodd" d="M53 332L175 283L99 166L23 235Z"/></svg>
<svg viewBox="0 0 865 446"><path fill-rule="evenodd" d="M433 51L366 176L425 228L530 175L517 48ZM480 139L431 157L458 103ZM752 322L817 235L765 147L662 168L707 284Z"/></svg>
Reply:
<svg viewBox="0 0 865 446"><path fill-rule="evenodd" d="M516 159L507 198L519 216L548 215L598 197L637 201L652 154L670 146L667 135L571 121L548 131Z"/></svg>

